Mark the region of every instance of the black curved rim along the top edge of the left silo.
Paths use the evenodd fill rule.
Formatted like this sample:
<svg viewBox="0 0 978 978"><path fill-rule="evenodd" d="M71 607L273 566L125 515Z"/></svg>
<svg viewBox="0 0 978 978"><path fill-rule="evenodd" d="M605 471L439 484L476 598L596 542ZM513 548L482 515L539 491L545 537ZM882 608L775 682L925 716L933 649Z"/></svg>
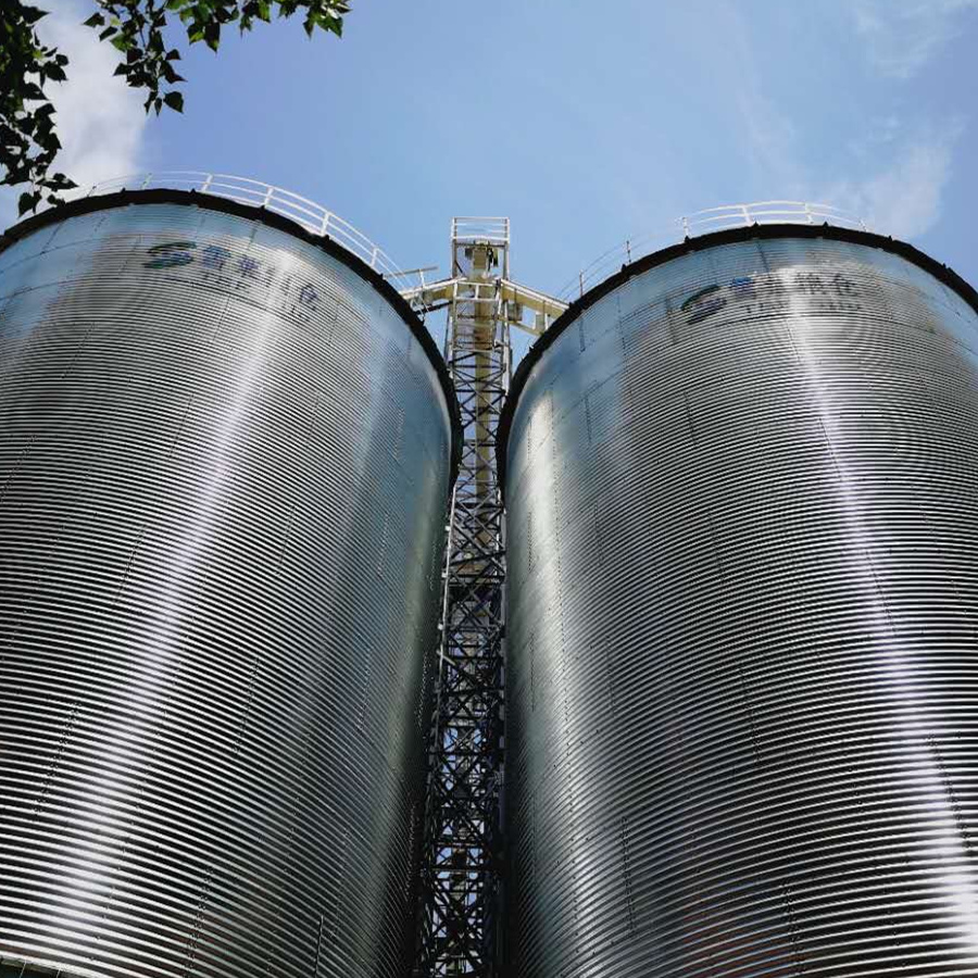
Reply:
<svg viewBox="0 0 978 978"><path fill-rule="evenodd" d="M459 398L455 394L455 386L449 375L444 359L438 350L431 334L428 333L425 324L418 318L417 314L408 304L401 293L383 276L379 272L372 268L366 262L348 251L341 244L337 243L329 237L314 235L305 228L290 221L288 217L277 214L274 211L267 211L263 208L255 208L251 204L239 203L236 200L229 200L224 197L214 197L208 193L198 193L193 190L174 190L170 188L160 188L152 190L121 190L117 193L106 193L97 197L79 197L75 200L60 203L40 214L35 214L24 221L14 224L5 231L0 234L0 253L5 251L15 241L20 241L27 235L34 234L42 227L57 224L68 217L77 217L82 214L90 214L95 211L108 211L115 208L124 208L129 204L150 204L150 203L172 203L183 206L199 206L208 211L218 211L224 214L231 214L236 217L244 217L249 221L259 221L268 227L285 231L294 238L299 238L309 244L314 244L325 251L330 258L342 262L348 268L360 275L361 278L369 283L379 293L397 310L398 314L404 321L408 328L414 334L417 341L422 344L435 373L438 375L439 384L446 397L446 404L449 411L452 426L452 465L449 485L453 486L455 476L459 473L459 464L462 460L462 412L459 408Z"/></svg>

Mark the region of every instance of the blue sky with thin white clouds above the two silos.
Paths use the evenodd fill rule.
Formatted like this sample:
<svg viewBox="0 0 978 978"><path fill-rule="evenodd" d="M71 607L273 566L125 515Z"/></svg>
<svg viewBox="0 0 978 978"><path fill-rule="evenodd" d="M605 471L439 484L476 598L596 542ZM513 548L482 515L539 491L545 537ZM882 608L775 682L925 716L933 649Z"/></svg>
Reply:
<svg viewBox="0 0 978 978"><path fill-rule="evenodd" d="M149 121L84 0L49 5L79 181L258 177L402 267L446 268L455 214L509 215L544 290L679 214L825 200L978 284L978 0L353 0L342 40L281 22L188 51L185 114Z"/></svg>

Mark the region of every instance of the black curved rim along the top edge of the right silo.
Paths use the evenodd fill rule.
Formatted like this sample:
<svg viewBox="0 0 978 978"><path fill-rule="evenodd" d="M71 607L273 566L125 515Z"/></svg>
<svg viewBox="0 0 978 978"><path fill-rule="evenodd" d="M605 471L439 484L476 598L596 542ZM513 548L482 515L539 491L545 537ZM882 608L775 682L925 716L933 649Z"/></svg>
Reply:
<svg viewBox="0 0 978 978"><path fill-rule="evenodd" d="M831 224L751 224L743 227L732 227L725 230L714 231L709 235L701 235L695 238L687 238L677 244L663 248L660 251L653 251L651 254L631 262L631 264L622 265L619 272L610 275L603 281L598 283L593 288L588 289L579 299L575 299L570 305L557 316L550 325L550 328L529 348L526 355L519 362L513 380L510 384L510 391L506 401L503 404L499 421L499 435L496 442L496 459L499 471L499 484L501 491L505 494L505 476L506 476L506 446L510 439L510 427L513 423L513 414L516 411L516 403L519 396L526 387L530 372L540 361L543 353L557 339L557 337L569 326L586 309L604 298L609 292L614 291L619 286L641 275L650 268L657 265L664 265L667 262L692 254L697 251L704 251L709 248L717 248L723 244L735 244L741 241L750 241L753 239L767 238L828 238L833 241L849 241L854 244L863 244L867 248L879 248L882 251L889 251L902 259L923 268L932 275L943 285L957 292L978 313L978 291L968 285L953 268L941 264L937 259L930 258L923 251L908 244L906 241L900 241L883 235L877 235L873 231L857 230L850 227L839 227Z"/></svg>

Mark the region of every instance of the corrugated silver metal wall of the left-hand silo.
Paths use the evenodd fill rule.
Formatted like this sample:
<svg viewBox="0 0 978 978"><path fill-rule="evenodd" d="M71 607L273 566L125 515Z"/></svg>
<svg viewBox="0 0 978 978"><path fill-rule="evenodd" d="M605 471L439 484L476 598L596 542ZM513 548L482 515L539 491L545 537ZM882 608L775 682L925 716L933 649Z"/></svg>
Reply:
<svg viewBox="0 0 978 978"><path fill-rule="evenodd" d="M406 974L450 442L405 319L285 229L0 254L0 956Z"/></svg>

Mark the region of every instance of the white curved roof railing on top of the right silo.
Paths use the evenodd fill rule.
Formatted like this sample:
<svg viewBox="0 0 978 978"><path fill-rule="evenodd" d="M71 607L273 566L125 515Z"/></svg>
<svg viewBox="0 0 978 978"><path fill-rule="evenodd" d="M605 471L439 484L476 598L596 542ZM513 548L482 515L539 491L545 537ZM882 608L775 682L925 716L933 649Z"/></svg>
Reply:
<svg viewBox="0 0 978 978"><path fill-rule="evenodd" d="M868 231L862 217L827 203L800 200L762 200L755 203L725 204L676 217L668 225L651 235L628 238L600 254L593 262L568 281L557 298L570 302L580 298L591 286L598 285L623 265L677 244L686 238L697 238L712 231L731 227L749 227L754 224L830 224Z"/></svg>

